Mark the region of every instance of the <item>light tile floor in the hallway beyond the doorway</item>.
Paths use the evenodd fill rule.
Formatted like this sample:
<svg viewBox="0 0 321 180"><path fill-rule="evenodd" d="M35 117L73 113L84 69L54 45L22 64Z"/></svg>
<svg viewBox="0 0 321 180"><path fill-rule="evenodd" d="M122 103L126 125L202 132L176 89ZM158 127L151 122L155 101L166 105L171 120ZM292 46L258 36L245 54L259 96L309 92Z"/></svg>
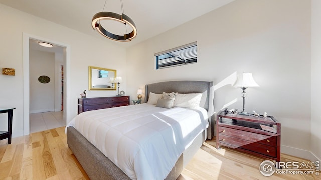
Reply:
<svg viewBox="0 0 321 180"><path fill-rule="evenodd" d="M30 133L66 126L63 111L30 114Z"/></svg>

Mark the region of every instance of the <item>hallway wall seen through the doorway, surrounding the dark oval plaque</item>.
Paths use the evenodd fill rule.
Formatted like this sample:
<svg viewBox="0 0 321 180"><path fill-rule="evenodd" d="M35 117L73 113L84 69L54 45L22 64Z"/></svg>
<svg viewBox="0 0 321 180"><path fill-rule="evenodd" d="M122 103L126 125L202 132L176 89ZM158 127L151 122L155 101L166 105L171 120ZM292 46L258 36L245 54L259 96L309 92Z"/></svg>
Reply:
<svg viewBox="0 0 321 180"><path fill-rule="evenodd" d="M55 53L30 50L30 113L55 110ZM46 75L49 83L40 83L38 77Z"/></svg>

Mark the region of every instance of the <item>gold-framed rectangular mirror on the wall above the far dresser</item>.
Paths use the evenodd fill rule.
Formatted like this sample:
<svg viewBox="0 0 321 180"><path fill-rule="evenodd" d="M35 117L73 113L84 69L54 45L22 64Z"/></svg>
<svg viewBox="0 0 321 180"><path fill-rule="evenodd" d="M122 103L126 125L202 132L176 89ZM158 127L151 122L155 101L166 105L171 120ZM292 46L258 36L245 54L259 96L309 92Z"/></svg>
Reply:
<svg viewBox="0 0 321 180"><path fill-rule="evenodd" d="M110 80L116 77L116 70L89 66L89 90L116 90Z"/></svg>

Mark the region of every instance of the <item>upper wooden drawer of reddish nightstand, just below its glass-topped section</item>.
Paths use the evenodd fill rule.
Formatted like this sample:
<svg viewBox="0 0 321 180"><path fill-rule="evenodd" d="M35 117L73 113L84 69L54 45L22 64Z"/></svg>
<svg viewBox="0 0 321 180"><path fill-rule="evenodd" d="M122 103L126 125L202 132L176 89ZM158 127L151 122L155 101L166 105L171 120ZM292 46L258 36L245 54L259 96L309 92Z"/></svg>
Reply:
<svg viewBox="0 0 321 180"><path fill-rule="evenodd" d="M235 137L237 139L246 139L247 141L258 142L265 145L276 147L276 137L271 137L268 135L247 132L243 130L228 128L228 127L219 127L219 135L220 135L220 140L222 139L221 135L226 135L226 136Z"/></svg>

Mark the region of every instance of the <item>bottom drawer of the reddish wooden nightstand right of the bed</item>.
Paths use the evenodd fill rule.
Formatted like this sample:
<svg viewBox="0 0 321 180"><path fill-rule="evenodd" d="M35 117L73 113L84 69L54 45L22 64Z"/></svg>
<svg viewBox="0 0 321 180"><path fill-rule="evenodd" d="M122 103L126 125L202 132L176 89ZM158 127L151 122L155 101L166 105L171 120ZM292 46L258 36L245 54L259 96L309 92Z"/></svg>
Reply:
<svg viewBox="0 0 321 180"><path fill-rule="evenodd" d="M245 149L255 153L276 157L276 147L227 135L220 135L219 143L233 149Z"/></svg>

